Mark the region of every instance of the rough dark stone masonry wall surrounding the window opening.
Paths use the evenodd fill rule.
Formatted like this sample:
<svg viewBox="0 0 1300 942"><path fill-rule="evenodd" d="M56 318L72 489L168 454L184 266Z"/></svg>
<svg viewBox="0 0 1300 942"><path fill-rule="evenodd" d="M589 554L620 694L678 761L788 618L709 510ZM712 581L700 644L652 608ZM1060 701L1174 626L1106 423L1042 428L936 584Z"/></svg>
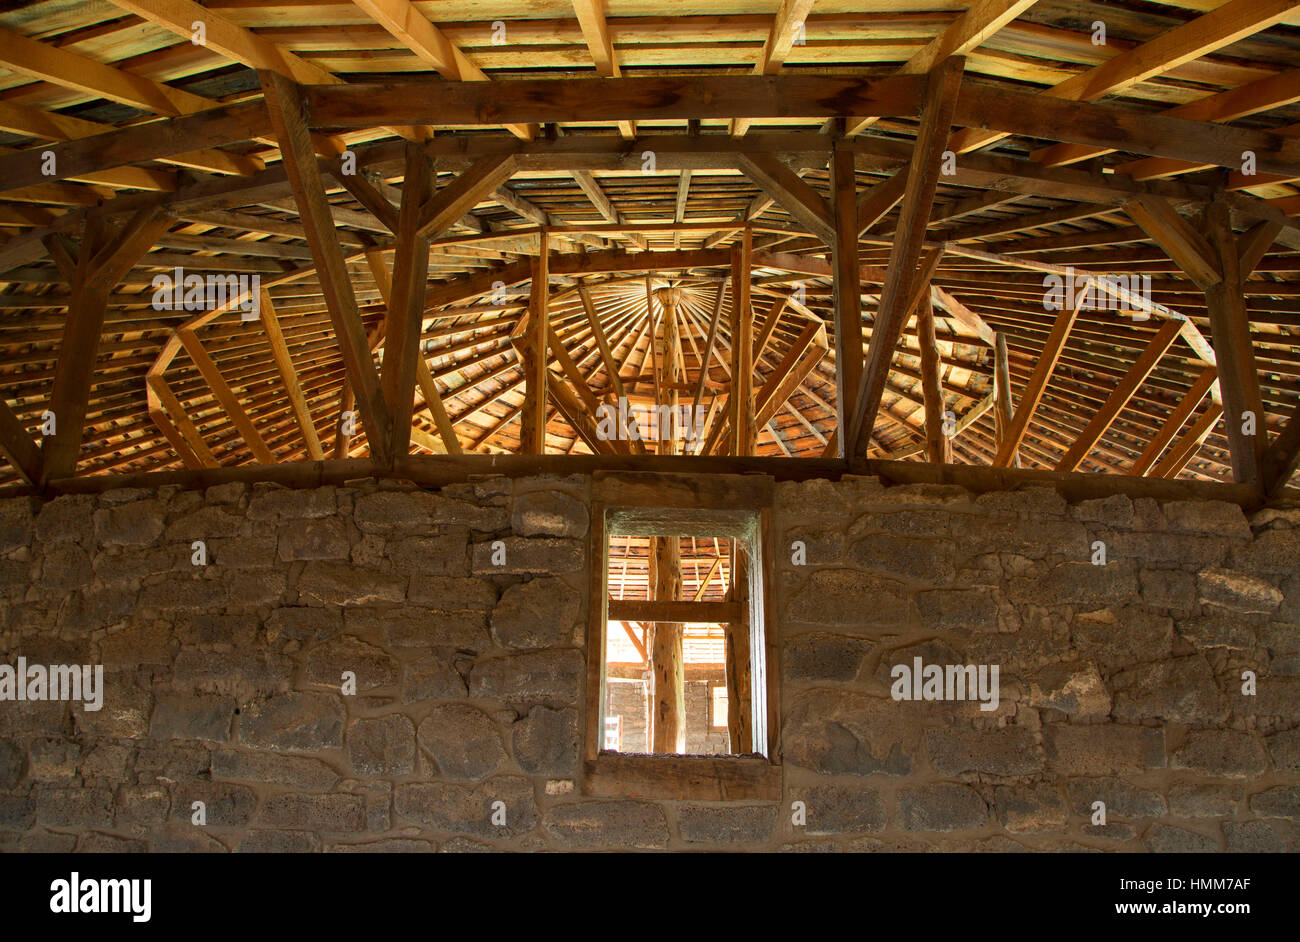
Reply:
<svg viewBox="0 0 1300 942"><path fill-rule="evenodd" d="M1300 511L776 494L766 803L582 796L585 477L5 500L0 663L104 704L0 703L0 850L1300 850Z"/></svg>

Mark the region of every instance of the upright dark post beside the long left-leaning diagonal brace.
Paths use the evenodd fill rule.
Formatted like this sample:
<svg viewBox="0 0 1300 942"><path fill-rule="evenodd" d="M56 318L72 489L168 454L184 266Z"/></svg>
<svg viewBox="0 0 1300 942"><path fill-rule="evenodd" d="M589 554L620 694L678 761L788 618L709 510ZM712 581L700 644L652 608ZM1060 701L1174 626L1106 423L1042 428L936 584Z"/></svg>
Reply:
<svg viewBox="0 0 1300 942"><path fill-rule="evenodd" d="M422 208L433 192L433 172L424 148L408 142L398 213L396 251L393 256L393 287L384 317L384 372L380 383L390 417L393 455L411 450L415 416L416 364L424 359L420 331L424 325L425 288L429 283L429 242L420 234Z"/></svg>

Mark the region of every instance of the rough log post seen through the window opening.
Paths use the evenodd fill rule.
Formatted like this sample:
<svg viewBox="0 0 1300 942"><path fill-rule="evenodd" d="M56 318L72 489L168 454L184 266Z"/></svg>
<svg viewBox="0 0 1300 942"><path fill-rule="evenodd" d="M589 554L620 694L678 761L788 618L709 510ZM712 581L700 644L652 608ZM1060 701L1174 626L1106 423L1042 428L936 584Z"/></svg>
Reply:
<svg viewBox="0 0 1300 942"><path fill-rule="evenodd" d="M651 537L651 585L656 602L676 602L681 590L681 550L677 537ZM686 751L686 676L681 655L681 624L654 622L650 644L654 677L651 752Z"/></svg>

